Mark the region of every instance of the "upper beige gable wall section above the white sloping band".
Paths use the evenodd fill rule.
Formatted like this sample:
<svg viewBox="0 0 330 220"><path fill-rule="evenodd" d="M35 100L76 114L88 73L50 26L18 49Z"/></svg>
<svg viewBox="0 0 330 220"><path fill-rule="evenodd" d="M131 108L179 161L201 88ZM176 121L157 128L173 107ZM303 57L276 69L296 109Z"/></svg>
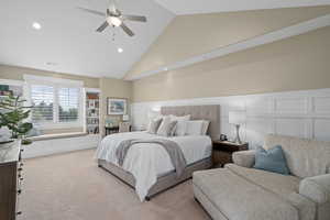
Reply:
<svg viewBox="0 0 330 220"><path fill-rule="evenodd" d="M330 7L176 16L125 78L330 13Z"/></svg>

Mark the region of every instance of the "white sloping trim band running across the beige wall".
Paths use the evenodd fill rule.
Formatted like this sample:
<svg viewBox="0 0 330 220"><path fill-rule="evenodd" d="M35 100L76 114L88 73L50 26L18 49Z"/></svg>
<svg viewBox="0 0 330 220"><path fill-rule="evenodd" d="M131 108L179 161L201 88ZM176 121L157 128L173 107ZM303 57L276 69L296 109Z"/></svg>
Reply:
<svg viewBox="0 0 330 220"><path fill-rule="evenodd" d="M200 62L205 62L205 61L209 61L216 57L221 57L221 56L226 56L228 54L231 53L235 53L235 52L240 52L243 50L248 50L248 48L252 48L252 47L256 47L260 45L264 45L264 44L268 44L275 41L280 41L290 36L296 36L302 33L307 33L320 28L324 28L324 26L329 26L330 25L330 14L323 15L323 16L319 16L316 19L311 19L292 26L287 26L274 32L270 32L263 35L258 35L249 40L244 40L244 41L240 41L223 47L219 47L217 50L213 50L209 53L205 53L201 55L197 55L190 58L187 58L185 61L182 62L176 62L173 63L170 65L166 65L163 67L160 67L157 69L153 69L150 72L145 72L145 73L141 73L139 75L135 76L129 76L127 78L127 80L138 80L144 77L148 77L155 74L160 74L162 72L167 72L167 70L174 70L174 69L178 69L178 68L183 68L185 66L189 66L196 63L200 63Z"/></svg>

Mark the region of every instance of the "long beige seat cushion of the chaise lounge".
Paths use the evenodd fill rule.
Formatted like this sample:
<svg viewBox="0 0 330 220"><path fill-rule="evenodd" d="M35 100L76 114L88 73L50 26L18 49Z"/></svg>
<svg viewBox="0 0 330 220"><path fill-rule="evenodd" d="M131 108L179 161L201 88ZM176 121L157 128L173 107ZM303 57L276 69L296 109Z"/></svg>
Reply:
<svg viewBox="0 0 330 220"><path fill-rule="evenodd" d="M290 202L229 168L195 172L193 183L231 220L299 220Z"/></svg>

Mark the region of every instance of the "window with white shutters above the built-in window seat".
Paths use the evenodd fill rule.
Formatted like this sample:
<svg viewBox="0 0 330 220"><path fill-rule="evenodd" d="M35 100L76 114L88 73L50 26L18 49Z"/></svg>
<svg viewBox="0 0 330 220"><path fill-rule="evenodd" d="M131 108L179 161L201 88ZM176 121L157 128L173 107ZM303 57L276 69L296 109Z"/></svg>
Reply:
<svg viewBox="0 0 330 220"><path fill-rule="evenodd" d="M32 79L31 79L32 78ZM82 127L81 87L73 80L28 77L32 122L44 129ZM38 78L37 78L38 79Z"/></svg>

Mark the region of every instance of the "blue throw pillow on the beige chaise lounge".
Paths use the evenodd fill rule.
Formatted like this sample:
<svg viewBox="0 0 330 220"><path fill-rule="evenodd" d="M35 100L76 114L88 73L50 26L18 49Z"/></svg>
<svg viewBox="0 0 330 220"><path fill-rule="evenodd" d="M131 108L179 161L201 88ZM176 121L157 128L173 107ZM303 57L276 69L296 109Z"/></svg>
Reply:
<svg viewBox="0 0 330 220"><path fill-rule="evenodd" d="M289 175L289 169L280 145L276 145L268 151L261 146L257 147L254 168Z"/></svg>

